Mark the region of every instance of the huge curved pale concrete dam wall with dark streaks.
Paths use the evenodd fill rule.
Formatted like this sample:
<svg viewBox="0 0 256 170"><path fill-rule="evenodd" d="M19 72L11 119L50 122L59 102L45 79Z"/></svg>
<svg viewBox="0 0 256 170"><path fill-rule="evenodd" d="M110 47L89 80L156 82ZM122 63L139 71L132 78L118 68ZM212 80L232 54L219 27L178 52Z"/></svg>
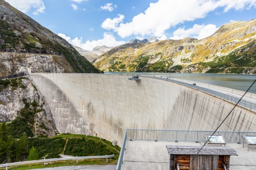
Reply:
<svg viewBox="0 0 256 170"><path fill-rule="evenodd" d="M60 133L121 145L125 129L215 130L234 104L176 83L104 74L30 74ZM255 131L256 114L237 106L219 130Z"/></svg>

